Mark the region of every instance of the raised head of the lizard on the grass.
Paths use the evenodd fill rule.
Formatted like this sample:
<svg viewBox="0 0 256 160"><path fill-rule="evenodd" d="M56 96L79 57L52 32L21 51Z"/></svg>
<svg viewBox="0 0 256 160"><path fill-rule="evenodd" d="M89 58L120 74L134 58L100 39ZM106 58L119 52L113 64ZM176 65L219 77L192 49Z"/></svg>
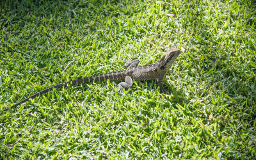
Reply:
<svg viewBox="0 0 256 160"><path fill-rule="evenodd" d="M170 49L166 54L164 54L163 58L159 61L160 69L161 70L168 70L171 66L173 61L180 55L179 49Z"/></svg>

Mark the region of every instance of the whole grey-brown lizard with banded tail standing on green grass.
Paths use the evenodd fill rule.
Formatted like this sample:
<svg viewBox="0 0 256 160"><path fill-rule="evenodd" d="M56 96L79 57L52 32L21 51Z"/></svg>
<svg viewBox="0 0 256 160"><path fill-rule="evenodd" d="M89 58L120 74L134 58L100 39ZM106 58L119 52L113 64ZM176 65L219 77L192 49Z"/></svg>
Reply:
<svg viewBox="0 0 256 160"><path fill-rule="evenodd" d="M116 72L109 72L106 74L99 74L95 76L84 77L81 79L76 79L73 81L68 81L65 83L56 84L45 90L37 92L30 97L17 102L10 108L3 109L4 111L8 111L8 109L14 108L19 106L20 104L27 102L29 99L33 99L38 95L42 95L43 93L50 92L53 88L60 88L61 86L67 86L68 84L84 84L100 81L107 81L108 79L111 81L124 81L118 84L118 92L122 91L122 88L130 88L133 84L133 80L135 81L147 81L152 79L158 79L158 85L160 90L163 91L163 77L166 72L172 67L173 61L179 56L180 50L179 49L170 49L168 52L164 54L164 56L159 60L158 63L152 65L142 65L138 66L139 60L129 60L125 63L126 70L116 71Z"/></svg>

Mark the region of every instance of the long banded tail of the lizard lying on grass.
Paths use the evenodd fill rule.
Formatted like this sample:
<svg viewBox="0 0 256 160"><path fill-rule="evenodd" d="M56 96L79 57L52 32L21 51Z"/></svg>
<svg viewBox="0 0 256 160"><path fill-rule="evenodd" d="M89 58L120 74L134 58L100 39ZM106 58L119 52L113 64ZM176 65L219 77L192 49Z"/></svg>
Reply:
<svg viewBox="0 0 256 160"><path fill-rule="evenodd" d="M42 95L43 93L50 92L51 90L53 90L53 88L60 88L61 86L67 86L68 84L76 85L76 84L90 83L92 81L95 81L95 82L106 81L107 79L115 80L115 81L122 80L122 79L125 78L125 76L123 76L122 72L123 71L111 72L111 73L108 73L108 74L100 74L100 75L97 75L97 76L84 77L84 78L81 78L81 79L76 79L74 81L68 81L68 82L65 82L65 83L56 84L55 86L51 86L49 88L46 88L46 89L44 89L40 92L37 92L37 93L31 95L30 97L28 97L24 100L21 100L20 102L17 102L17 104L14 104L10 108L3 109L3 111L8 111L11 108L15 108L16 106L19 106L20 104L22 104L24 102L27 102L29 99L33 99L33 98L37 97L38 95Z"/></svg>

